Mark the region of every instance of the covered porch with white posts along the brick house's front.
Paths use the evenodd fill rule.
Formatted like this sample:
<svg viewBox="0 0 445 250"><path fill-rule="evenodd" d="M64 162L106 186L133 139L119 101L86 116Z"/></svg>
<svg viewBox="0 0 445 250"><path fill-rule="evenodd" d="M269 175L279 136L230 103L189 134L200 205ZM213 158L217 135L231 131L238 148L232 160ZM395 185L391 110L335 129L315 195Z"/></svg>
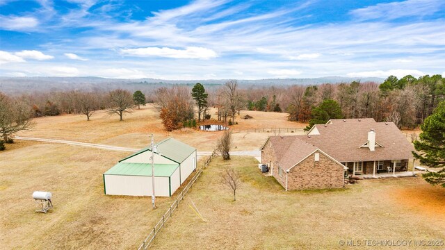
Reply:
<svg viewBox="0 0 445 250"><path fill-rule="evenodd" d="M378 176L396 176L396 174L407 173L414 168L414 160L373 160L342 163L348 167L348 174L351 176L369 176L379 178ZM413 173L411 173L413 174Z"/></svg>

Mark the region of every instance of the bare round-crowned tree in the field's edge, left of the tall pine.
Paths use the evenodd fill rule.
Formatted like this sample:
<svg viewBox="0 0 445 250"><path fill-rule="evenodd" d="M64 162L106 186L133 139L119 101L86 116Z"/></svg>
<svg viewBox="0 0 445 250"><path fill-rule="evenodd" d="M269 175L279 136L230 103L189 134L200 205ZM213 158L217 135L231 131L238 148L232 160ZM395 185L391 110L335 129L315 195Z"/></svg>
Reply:
<svg viewBox="0 0 445 250"><path fill-rule="evenodd" d="M133 95L128 90L111 90L108 93L108 103L108 113L110 115L118 114L120 121L122 121L124 113L133 112Z"/></svg>

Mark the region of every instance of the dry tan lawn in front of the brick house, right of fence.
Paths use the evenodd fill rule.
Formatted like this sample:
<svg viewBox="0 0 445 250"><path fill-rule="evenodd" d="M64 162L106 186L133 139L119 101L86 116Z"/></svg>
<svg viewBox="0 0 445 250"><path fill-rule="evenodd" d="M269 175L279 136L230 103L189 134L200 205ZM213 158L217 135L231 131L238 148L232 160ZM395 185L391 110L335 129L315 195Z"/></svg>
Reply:
<svg viewBox="0 0 445 250"><path fill-rule="evenodd" d="M204 170L153 249L344 249L340 240L445 240L445 188L422 178L285 192L254 158L232 158L216 158ZM236 201L220 183L225 165L243 176ZM188 206L192 201L204 221Z"/></svg>

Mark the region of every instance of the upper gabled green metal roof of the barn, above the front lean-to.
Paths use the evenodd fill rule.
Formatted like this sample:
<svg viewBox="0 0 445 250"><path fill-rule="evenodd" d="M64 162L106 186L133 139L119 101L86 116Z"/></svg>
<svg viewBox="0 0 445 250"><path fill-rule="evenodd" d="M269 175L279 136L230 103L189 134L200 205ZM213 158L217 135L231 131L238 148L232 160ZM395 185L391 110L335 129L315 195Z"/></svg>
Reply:
<svg viewBox="0 0 445 250"><path fill-rule="evenodd" d="M161 154L161 156L173 160L175 163L182 163L184 160L186 160L188 156L190 156L193 152L196 151L194 147L188 146L187 144L179 142L179 140L175 140L173 138L167 138L159 142L157 144L157 147L158 147L157 148L158 154ZM143 153L145 151L152 151L152 147L151 146L145 147L140 151L133 153L131 156L123 158L122 160L127 160L128 158L136 156L139 153ZM120 162L122 160L120 160Z"/></svg>

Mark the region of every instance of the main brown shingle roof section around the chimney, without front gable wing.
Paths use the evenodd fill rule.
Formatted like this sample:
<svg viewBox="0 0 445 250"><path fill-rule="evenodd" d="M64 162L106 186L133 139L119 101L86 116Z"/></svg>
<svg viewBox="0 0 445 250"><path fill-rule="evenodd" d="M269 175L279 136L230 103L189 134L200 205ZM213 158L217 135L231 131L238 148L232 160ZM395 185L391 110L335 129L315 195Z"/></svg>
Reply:
<svg viewBox="0 0 445 250"><path fill-rule="evenodd" d="M393 122L367 119L332 119L327 125L315 125L320 135L297 135L296 138L319 147L339 162L367 160L401 160L412 158L414 147ZM368 140L371 128L375 142L382 147L360 148Z"/></svg>

